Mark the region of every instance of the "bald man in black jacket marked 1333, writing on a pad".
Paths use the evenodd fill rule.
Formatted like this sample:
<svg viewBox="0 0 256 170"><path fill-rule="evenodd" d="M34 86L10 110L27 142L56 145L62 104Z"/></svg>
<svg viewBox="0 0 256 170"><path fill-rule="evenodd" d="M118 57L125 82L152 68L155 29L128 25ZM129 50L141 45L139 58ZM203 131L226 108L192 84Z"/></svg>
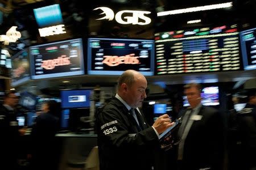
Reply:
<svg viewBox="0 0 256 170"><path fill-rule="evenodd" d="M172 126L167 114L152 126L138 109L146 98L147 80L139 72L125 71L115 97L98 113L96 125L101 170L154 169L159 134Z"/></svg>

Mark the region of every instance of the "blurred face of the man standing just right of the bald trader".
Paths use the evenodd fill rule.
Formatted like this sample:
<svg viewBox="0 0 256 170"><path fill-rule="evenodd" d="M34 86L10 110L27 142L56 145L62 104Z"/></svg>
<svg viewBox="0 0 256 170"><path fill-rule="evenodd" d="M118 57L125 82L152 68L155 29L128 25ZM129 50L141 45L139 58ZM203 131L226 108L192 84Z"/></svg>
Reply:
<svg viewBox="0 0 256 170"><path fill-rule="evenodd" d="M196 87L187 88L184 91L184 94L188 98L188 103L192 108L195 108L201 102L200 91Z"/></svg>

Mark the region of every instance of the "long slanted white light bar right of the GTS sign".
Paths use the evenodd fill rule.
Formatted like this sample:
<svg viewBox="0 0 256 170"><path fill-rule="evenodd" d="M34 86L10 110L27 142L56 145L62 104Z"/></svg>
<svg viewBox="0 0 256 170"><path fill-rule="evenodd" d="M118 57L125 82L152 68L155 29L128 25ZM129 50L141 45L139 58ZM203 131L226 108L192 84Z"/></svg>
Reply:
<svg viewBox="0 0 256 170"><path fill-rule="evenodd" d="M182 14L187 12L207 11L207 10L214 10L214 9L220 9L220 8L228 8L232 6L233 6L232 2L218 3L214 5L206 5L206 6L199 6L199 7L184 8L180 10L158 12L157 15L158 16L175 15L175 14Z"/></svg>

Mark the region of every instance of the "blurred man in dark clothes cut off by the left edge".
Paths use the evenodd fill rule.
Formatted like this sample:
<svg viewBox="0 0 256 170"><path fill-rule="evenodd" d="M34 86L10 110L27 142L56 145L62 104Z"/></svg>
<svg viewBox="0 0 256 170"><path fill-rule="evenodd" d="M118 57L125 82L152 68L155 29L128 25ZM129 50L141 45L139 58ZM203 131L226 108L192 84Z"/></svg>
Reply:
<svg viewBox="0 0 256 170"><path fill-rule="evenodd" d="M9 169L17 168L17 150L16 143L19 137L18 121L14 108L18 104L18 96L14 91L5 95L3 105L0 106L0 169L3 167Z"/></svg>

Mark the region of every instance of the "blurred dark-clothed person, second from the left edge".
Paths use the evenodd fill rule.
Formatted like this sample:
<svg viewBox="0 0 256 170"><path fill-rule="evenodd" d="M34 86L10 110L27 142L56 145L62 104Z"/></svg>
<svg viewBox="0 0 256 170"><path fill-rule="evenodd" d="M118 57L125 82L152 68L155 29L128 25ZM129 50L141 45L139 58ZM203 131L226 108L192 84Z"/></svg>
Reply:
<svg viewBox="0 0 256 170"><path fill-rule="evenodd" d="M31 165L32 169L56 169L55 134L59 130L61 107L55 100L42 104L42 112L35 119L31 131Z"/></svg>

